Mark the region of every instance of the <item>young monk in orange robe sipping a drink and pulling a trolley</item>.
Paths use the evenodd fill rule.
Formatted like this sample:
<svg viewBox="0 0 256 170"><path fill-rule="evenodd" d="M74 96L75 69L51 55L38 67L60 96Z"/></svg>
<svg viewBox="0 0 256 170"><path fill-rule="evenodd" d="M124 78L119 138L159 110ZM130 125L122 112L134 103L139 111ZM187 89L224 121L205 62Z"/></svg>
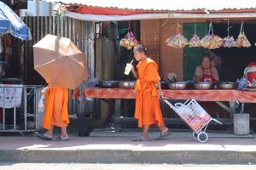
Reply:
<svg viewBox="0 0 256 170"><path fill-rule="evenodd" d="M160 136L157 139L164 139L170 135L160 111L159 98L162 96L162 90L158 67L154 60L149 59L145 53L146 48L143 45L137 45L133 49L134 58L139 61L137 71L134 67L131 69L133 76L137 78L135 118L138 119L138 127L143 127L142 136L133 139L134 141L149 140L150 125L157 125L160 128Z"/></svg>

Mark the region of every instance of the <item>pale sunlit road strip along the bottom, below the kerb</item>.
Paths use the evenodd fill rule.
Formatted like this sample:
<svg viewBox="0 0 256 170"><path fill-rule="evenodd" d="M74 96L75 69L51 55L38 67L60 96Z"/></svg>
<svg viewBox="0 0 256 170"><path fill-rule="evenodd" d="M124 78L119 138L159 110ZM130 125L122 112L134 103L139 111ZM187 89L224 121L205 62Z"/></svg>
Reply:
<svg viewBox="0 0 256 170"><path fill-rule="evenodd" d="M255 170L256 165L0 163L0 170Z"/></svg>

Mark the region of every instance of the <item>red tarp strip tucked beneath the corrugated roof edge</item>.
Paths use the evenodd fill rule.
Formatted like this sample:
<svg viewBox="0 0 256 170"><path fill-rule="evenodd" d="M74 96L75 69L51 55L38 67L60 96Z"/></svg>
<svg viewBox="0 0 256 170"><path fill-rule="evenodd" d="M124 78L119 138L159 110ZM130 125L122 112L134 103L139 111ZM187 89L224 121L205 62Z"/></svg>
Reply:
<svg viewBox="0 0 256 170"><path fill-rule="evenodd" d="M81 6L75 8L72 12L79 14L107 14L107 15L129 15L129 14L148 14L152 11L138 10L138 9L120 9L120 8L100 8L100 7L88 7Z"/></svg>

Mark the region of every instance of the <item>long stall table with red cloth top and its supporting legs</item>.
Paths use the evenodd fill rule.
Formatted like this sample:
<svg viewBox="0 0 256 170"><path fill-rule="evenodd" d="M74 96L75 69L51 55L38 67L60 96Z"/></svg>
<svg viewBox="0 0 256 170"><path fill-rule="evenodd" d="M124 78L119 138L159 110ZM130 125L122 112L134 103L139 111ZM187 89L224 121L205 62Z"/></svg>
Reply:
<svg viewBox="0 0 256 170"><path fill-rule="evenodd" d="M86 88L84 89L84 96L87 98L96 99L114 99L114 119L115 126L119 130L124 121L135 122L131 117L121 116L121 99L135 99L134 89L124 88ZM170 90L164 89L163 94L166 99L187 100L195 99L197 101L214 101L230 112L230 118L236 113L237 106L241 103L241 110L244 109L244 103L256 103L255 92L245 92L236 89L211 89L211 90ZM223 102L228 102L229 105L224 105ZM120 118L121 117L121 118ZM225 125L231 125L232 119L219 119ZM166 118L167 124L182 123L177 118Z"/></svg>

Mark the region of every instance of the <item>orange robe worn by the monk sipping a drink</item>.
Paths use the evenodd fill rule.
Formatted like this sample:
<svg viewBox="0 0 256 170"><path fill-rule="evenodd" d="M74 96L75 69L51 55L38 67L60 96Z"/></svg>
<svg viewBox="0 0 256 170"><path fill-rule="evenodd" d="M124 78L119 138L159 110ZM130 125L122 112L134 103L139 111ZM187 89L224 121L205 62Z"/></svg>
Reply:
<svg viewBox="0 0 256 170"><path fill-rule="evenodd" d="M157 64L152 59L143 59L138 63L137 70L135 118L138 119L138 127L153 124L164 126L155 84L160 81Z"/></svg>

